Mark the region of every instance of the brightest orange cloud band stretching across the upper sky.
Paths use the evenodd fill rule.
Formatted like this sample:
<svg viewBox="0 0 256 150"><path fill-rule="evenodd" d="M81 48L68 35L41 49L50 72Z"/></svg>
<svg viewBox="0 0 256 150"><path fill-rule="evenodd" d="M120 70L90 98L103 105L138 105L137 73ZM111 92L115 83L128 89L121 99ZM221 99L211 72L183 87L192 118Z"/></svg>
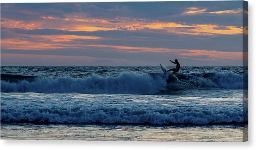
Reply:
<svg viewBox="0 0 256 150"><path fill-rule="evenodd" d="M192 7L190 10L196 11L198 8ZM203 10L203 9L201 9ZM190 12L191 13L191 12ZM25 22L19 20L1 19L1 26L4 28L22 28L33 29L56 29L68 31L109 31L109 30L145 30L158 32L162 30L166 33L190 34L190 35L214 35L214 34L247 34L242 28L235 26L220 26L213 24L185 24L176 22L146 22L145 19L119 18L116 21L104 19L79 18L79 16L68 16L66 18L42 16L41 20L36 22ZM60 24L60 19L62 23Z"/></svg>

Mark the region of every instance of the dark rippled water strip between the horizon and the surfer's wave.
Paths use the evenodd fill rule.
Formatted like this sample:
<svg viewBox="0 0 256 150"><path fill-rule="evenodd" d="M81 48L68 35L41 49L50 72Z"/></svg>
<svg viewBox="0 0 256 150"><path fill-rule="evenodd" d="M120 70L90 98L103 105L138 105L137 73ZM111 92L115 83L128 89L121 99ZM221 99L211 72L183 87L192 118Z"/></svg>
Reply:
<svg viewBox="0 0 256 150"><path fill-rule="evenodd" d="M169 66L167 68L173 68ZM245 68L244 68L245 69ZM88 77L91 75L118 76L123 72L163 73L159 66L1 66L1 74L35 75L39 77ZM181 73L243 74L242 66L181 66Z"/></svg>

